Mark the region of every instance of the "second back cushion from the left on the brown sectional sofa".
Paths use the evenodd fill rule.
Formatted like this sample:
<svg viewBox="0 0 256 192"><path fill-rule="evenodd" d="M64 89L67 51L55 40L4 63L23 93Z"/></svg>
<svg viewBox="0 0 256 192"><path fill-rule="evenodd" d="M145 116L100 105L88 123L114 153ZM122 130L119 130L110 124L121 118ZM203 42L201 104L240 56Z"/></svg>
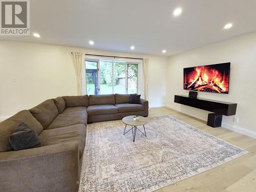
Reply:
<svg viewBox="0 0 256 192"><path fill-rule="evenodd" d="M59 113L52 99L48 99L38 104L29 111L44 128L48 127L48 125Z"/></svg>

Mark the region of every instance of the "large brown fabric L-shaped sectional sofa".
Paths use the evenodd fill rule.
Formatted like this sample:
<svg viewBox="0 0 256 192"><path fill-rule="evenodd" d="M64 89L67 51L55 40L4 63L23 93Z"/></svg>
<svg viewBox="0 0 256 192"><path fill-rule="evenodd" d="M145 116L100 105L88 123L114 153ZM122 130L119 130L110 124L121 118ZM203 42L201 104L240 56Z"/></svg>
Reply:
<svg viewBox="0 0 256 192"><path fill-rule="evenodd" d="M130 95L63 96L48 99L0 122L1 191L77 191L87 123L148 115L148 101ZM28 124L42 146L13 151L10 134Z"/></svg>

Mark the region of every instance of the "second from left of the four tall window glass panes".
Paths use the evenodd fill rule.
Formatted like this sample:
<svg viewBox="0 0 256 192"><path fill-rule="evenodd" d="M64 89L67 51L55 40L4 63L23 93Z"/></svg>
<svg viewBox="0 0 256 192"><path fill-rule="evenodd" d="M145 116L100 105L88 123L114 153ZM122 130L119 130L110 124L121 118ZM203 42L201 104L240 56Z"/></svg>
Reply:
<svg viewBox="0 0 256 192"><path fill-rule="evenodd" d="M113 93L112 61L100 61L100 94Z"/></svg>

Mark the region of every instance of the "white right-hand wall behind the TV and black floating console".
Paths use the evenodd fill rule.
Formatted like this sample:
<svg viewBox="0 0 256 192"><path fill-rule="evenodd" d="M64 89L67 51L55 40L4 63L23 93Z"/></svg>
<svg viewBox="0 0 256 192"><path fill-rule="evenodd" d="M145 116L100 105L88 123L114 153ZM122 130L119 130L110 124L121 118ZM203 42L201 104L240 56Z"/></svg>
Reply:
<svg viewBox="0 0 256 192"><path fill-rule="evenodd" d="M206 120L208 112L174 103L174 95L188 95L183 90L183 68L231 62L229 94L198 92L202 98L238 103L236 117L224 117L222 125L256 136L256 33L227 39L215 44L169 57L166 105L169 108Z"/></svg>

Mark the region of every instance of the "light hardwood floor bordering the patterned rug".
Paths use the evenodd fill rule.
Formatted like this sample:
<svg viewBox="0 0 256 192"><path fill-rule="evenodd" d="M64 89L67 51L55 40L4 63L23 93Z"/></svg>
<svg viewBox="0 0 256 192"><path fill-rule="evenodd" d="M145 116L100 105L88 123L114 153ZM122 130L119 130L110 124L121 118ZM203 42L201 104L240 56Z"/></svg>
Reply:
<svg viewBox="0 0 256 192"><path fill-rule="evenodd" d="M223 127L212 128L207 126L205 121L165 107L152 108L150 115L171 115L249 152L206 172L184 179L177 185L158 189L157 192L256 192L256 139Z"/></svg>

